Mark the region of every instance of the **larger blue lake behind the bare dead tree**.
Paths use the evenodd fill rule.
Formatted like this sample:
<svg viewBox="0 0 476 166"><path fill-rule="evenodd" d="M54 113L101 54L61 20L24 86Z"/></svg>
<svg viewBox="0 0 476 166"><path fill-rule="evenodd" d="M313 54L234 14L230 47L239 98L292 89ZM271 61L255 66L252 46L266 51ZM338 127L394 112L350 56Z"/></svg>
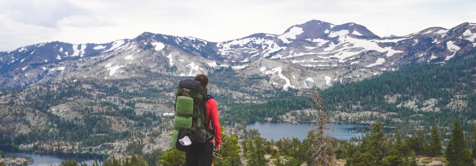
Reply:
<svg viewBox="0 0 476 166"><path fill-rule="evenodd" d="M283 137L296 137L299 140L303 140L307 137L307 131L314 128L314 123L297 123L288 124L280 122L265 122L265 123L250 123L246 126L247 129L257 129L261 134L261 137L267 140L279 140ZM326 135L337 139L350 139L362 137L369 129L369 126L353 125L353 124L337 124L332 123L326 126Z"/></svg>

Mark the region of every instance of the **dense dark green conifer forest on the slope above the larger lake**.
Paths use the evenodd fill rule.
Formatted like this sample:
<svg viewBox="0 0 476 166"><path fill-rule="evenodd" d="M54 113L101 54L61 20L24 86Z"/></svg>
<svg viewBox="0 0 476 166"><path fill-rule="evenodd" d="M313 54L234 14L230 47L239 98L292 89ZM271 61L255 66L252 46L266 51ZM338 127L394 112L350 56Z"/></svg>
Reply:
<svg viewBox="0 0 476 166"><path fill-rule="evenodd" d="M432 125L451 127L460 120L465 131L470 131L470 123L476 120L475 55L456 57L445 65L415 63L362 81L334 85L322 91L325 110L398 113L368 121L408 129L421 126L429 130ZM288 96L271 98L266 103L231 104L225 119L253 122L269 117L280 120L279 116L290 110L309 108L308 103L305 96L290 92ZM401 122L392 121L395 118Z"/></svg>

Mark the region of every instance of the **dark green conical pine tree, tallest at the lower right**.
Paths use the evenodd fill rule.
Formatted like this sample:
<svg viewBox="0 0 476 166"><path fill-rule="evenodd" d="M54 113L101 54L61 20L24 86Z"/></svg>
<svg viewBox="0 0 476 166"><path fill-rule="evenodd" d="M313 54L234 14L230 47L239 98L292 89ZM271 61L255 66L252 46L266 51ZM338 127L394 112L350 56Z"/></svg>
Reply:
<svg viewBox="0 0 476 166"><path fill-rule="evenodd" d="M464 140L464 133L459 121L455 123L455 129L451 134L451 139L448 142L448 147L445 152L448 166L472 166L473 161L469 154L469 149Z"/></svg>

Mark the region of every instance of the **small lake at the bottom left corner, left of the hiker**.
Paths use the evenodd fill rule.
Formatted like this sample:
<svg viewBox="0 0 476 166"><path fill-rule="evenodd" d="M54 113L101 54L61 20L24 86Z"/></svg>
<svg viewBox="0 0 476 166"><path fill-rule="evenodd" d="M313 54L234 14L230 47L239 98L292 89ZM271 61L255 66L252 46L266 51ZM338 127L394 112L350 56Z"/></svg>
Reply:
<svg viewBox="0 0 476 166"><path fill-rule="evenodd" d="M78 163L86 163L88 165L92 165L94 162L96 162L97 159L99 159L98 163L99 165L102 165L102 162L100 160L100 156L98 155L87 155L87 154L30 154L30 153L24 153L24 152L19 152L18 150L15 150L9 146L3 146L0 147L0 150L4 151L6 157L22 157L22 158L31 158L33 160L33 163L29 163L27 165L35 165L35 166L50 166L50 165L59 165L61 162L66 161L68 159L74 159Z"/></svg>

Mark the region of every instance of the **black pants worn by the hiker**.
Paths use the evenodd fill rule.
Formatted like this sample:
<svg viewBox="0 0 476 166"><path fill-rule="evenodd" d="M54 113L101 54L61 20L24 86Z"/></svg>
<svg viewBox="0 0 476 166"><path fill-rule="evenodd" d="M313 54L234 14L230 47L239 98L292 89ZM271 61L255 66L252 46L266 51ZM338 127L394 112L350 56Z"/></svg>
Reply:
<svg viewBox="0 0 476 166"><path fill-rule="evenodd" d="M210 166L213 162L213 144L196 143L190 145L190 149L185 152L187 166Z"/></svg>

